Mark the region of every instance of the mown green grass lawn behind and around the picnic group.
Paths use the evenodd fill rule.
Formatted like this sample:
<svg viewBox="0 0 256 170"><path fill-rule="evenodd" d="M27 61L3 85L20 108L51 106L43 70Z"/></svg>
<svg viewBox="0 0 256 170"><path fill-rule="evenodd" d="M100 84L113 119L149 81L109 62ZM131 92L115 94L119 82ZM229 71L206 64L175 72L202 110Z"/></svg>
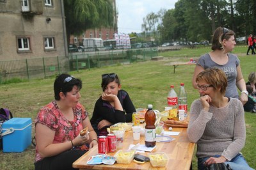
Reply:
<svg viewBox="0 0 256 170"><path fill-rule="evenodd" d="M182 49L177 51L159 53L164 56L162 61L146 61L132 63L131 65L116 65L104 68L93 68L71 72L75 77L83 81L81 89L81 104L92 114L94 104L102 90L100 88L102 73L118 73L122 82L122 88L129 92L135 107L147 107L153 104L154 109L163 111L166 106L166 97L170 90L170 84L179 91L180 82L184 82L188 93L188 107L193 100L198 98L198 91L192 88L191 79L194 66L178 66L175 74L173 66L168 65L173 61L189 61L189 58L198 58L210 47L202 49ZM256 71L256 56L245 56L247 47L236 47L233 53L239 56L245 81L248 74ZM1 107L8 107L15 117L36 117L38 109L54 99L54 77L19 83L0 85ZM246 145L242 152L251 167L256 167L256 155L254 139L256 138L256 114L246 112ZM34 128L34 127L33 127ZM33 130L34 134L34 130ZM22 153L3 153L0 151L0 169L34 169L35 148L30 146ZM196 158L193 158L193 169L196 169Z"/></svg>

